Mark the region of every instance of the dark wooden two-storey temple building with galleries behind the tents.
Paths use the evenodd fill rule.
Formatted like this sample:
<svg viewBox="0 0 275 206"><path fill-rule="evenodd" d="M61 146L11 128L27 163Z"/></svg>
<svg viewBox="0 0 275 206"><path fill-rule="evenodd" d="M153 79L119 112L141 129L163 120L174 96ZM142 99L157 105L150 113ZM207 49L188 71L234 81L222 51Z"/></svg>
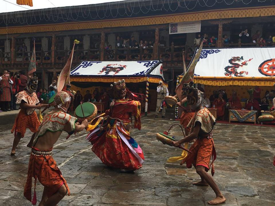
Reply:
<svg viewBox="0 0 275 206"><path fill-rule="evenodd" d="M200 21L200 33L208 35L212 44L205 47L274 46L241 42L239 33L248 29L250 37L258 30L267 39L275 36L275 5L266 1L224 0L129 0L92 5L56 7L0 14L0 71L28 70L33 41L36 41L37 74L40 87L48 88L61 71L74 39L72 67L87 61L162 60L164 78L171 91L176 76L183 71L195 51L198 32L169 34L170 23ZM229 41L224 41L227 35ZM117 47L119 39L150 47Z"/></svg>

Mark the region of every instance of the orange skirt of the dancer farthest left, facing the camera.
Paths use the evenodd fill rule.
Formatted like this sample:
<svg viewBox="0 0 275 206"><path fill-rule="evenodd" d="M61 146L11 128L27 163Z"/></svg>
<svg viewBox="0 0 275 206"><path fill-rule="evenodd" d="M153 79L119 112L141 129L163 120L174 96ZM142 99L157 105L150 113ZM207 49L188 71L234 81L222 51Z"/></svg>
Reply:
<svg viewBox="0 0 275 206"><path fill-rule="evenodd" d="M24 109L21 109L17 114L11 133L15 131L14 136L17 132L21 133L21 138L24 137L26 129L29 128L31 132L37 132L40 122L38 120L36 112L33 112L30 115L27 115Z"/></svg>

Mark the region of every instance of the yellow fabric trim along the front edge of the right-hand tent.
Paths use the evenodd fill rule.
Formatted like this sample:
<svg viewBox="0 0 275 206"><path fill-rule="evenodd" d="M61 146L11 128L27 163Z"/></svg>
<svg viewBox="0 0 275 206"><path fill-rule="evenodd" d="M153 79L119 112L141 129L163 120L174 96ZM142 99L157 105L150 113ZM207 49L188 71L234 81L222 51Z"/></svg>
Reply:
<svg viewBox="0 0 275 206"><path fill-rule="evenodd" d="M179 76L180 80L182 76ZM273 86L275 77L201 77L195 76L194 83L211 86Z"/></svg>

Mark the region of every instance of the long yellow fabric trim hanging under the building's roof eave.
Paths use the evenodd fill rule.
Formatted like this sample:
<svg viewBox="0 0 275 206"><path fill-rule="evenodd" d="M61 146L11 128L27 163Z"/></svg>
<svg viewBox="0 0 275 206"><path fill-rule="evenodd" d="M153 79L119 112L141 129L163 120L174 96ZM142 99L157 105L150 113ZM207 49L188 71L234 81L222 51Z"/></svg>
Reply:
<svg viewBox="0 0 275 206"><path fill-rule="evenodd" d="M207 10L199 12L188 12L178 15L158 15L150 17L137 18L123 18L123 19L105 19L97 21L82 21L59 24L44 24L35 26L16 26L16 27L2 27L0 34L12 33L33 33L44 31L66 31L79 29L98 29L105 27L126 27L126 26L140 26L140 25L155 25L167 24L173 22L184 21L199 21L209 19L226 19L226 18L242 18L242 17L260 17L272 16L275 13L275 7L252 7L252 8L233 8L222 10Z"/></svg>

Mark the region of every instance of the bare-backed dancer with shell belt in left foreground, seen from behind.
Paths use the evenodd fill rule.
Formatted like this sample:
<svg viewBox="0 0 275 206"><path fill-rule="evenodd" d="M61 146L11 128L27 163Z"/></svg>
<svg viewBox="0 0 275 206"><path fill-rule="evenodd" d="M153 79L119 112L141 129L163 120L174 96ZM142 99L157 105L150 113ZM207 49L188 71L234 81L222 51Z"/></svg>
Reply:
<svg viewBox="0 0 275 206"><path fill-rule="evenodd" d="M88 121L84 120L82 124L76 124L77 118L67 114L70 106L70 95L61 91L54 98L56 106L54 110L48 112L34 136L32 152L30 155L28 177L24 188L24 196L36 204L36 180L44 186L39 206L57 205L58 202L70 190L66 180L62 177L56 162L52 157L52 147L58 140L62 131L72 134L80 132L88 126ZM34 196L32 200L32 178L34 177Z"/></svg>

